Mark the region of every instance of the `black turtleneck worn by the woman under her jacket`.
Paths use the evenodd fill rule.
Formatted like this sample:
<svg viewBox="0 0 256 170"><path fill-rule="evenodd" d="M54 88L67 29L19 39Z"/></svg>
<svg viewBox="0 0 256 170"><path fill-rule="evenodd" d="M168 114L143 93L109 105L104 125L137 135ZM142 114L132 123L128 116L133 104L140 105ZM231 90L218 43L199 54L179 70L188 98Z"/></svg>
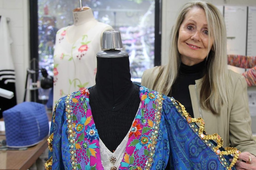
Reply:
<svg viewBox="0 0 256 170"><path fill-rule="evenodd" d="M204 76L204 70L206 67L206 59L193 66L187 66L181 63L178 71L178 77L173 83L171 93L168 94L168 96L172 96L182 105L184 105L187 112L192 117L194 117L194 112L189 93L189 85L195 85L195 80L198 80Z"/></svg>

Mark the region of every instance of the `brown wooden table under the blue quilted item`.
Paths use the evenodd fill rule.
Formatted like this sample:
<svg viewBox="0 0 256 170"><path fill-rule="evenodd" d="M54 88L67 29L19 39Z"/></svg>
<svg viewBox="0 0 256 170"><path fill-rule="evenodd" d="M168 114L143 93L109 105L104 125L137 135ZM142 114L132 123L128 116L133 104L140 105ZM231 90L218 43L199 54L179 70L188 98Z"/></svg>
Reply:
<svg viewBox="0 0 256 170"><path fill-rule="evenodd" d="M27 170L48 148L47 138L27 150L0 150L0 170ZM5 139L0 135L0 140Z"/></svg>

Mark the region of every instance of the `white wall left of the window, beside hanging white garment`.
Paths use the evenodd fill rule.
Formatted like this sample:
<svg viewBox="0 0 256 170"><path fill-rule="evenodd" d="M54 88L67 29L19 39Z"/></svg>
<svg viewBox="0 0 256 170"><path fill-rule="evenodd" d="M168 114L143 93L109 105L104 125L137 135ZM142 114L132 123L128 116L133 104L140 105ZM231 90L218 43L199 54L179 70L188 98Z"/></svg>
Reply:
<svg viewBox="0 0 256 170"><path fill-rule="evenodd" d="M28 0L0 0L0 15L10 18L12 57L16 72L17 102L23 101L26 69L29 65L29 2ZM4 61L1 61L4 62Z"/></svg>

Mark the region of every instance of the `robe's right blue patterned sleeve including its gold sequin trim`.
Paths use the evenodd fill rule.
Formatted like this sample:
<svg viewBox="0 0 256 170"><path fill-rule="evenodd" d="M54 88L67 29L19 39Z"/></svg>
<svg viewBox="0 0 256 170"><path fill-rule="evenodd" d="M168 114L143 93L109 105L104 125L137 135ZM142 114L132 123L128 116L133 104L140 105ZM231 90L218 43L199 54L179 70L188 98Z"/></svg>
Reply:
<svg viewBox="0 0 256 170"><path fill-rule="evenodd" d="M164 99L163 109L166 113L165 122L170 142L170 169L228 169L230 166L229 159L232 158L231 155L219 156L214 151L217 144L209 140L209 138L213 138L217 134L208 135L208 137L202 139L206 135L203 133L199 135L200 131L203 132L203 126L200 125L199 128L190 116L188 116L190 120L185 118L182 113L187 112L179 106L173 98L166 97ZM201 119L200 121L204 122ZM220 150L224 149L220 148ZM230 148L229 151L234 153L233 151L237 150ZM234 167L231 169L234 169Z"/></svg>

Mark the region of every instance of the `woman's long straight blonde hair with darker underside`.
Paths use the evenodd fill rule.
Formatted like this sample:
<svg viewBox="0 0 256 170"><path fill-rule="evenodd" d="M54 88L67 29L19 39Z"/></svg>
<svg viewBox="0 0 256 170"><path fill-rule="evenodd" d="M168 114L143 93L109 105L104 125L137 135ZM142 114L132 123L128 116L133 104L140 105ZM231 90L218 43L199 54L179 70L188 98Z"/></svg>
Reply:
<svg viewBox="0 0 256 170"><path fill-rule="evenodd" d="M214 39L212 47L208 46L207 71L203 77L200 91L200 105L204 109L211 110L214 114L220 112L223 104L227 105L228 94L228 70L227 70L227 43L225 21L219 9L209 2L191 1L185 4L171 31L169 62L162 66L154 82L153 89L168 95L177 78L181 59L178 51L178 33L187 12L199 7L205 11L210 37ZM210 44L210 43L208 43ZM209 88L210 87L210 88Z"/></svg>

